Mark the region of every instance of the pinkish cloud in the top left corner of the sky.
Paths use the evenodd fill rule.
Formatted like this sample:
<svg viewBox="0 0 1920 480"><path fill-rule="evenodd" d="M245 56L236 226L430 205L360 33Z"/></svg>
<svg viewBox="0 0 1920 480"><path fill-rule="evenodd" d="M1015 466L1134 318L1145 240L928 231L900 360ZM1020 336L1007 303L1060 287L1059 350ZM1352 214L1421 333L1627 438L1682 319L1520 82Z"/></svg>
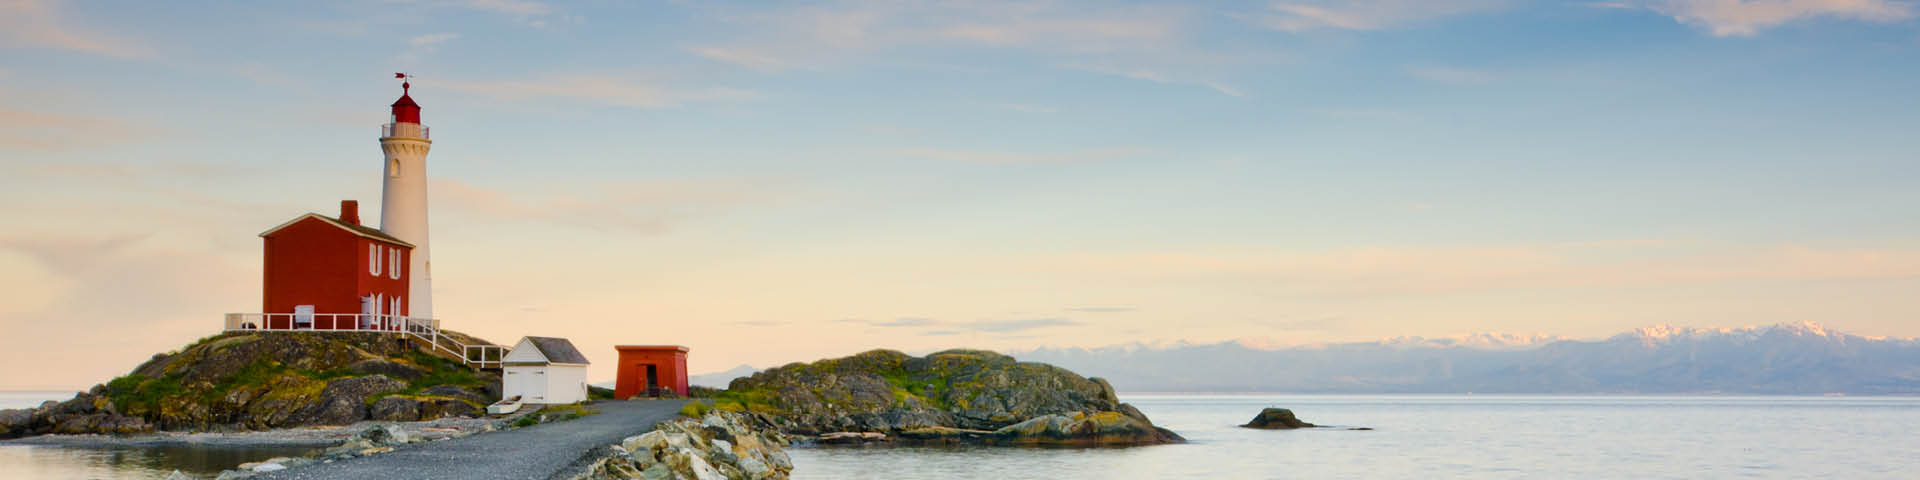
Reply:
<svg viewBox="0 0 1920 480"><path fill-rule="evenodd" d="M54 48L109 58L154 60L142 42L67 25L60 0L0 0L0 46Z"/></svg>

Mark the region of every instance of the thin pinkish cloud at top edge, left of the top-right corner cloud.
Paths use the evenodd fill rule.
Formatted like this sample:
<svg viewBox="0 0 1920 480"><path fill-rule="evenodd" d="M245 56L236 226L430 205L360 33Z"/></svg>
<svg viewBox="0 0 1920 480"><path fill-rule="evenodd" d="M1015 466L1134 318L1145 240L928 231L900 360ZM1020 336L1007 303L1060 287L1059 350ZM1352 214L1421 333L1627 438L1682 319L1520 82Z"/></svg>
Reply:
<svg viewBox="0 0 1920 480"><path fill-rule="evenodd" d="M1379 31L1425 19L1490 12L1509 0L1311 0L1271 2L1254 13L1235 13L1260 27L1306 33L1319 29Z"/></svg>

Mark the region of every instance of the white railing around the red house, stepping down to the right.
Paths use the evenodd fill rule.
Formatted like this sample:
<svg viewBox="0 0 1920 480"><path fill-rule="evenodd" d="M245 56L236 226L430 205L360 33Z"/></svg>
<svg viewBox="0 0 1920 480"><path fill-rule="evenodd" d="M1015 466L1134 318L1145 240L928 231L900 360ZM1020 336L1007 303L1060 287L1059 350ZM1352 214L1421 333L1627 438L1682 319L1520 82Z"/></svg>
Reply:
<svg viewBox="0 0 1920 480"><path fill-rule="evenodd" d="M227 313L227 332L367 332L409 334L467 367L499 369L501 346L468 346L440 334L438 319L372 313Z"/></svg>

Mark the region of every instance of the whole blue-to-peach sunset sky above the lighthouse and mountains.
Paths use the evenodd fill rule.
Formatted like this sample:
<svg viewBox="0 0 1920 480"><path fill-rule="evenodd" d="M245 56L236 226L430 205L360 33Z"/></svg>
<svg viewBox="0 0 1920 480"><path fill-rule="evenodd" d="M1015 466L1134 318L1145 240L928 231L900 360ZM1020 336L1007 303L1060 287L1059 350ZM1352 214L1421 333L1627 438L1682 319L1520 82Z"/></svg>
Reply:
<svg viewBox="0 0 1920 480"><path fill-rule="evenodd" d="M0 0L0 390L378 225L396 71L442 324L595 365L1920 336L1914 2Z"/></svg>

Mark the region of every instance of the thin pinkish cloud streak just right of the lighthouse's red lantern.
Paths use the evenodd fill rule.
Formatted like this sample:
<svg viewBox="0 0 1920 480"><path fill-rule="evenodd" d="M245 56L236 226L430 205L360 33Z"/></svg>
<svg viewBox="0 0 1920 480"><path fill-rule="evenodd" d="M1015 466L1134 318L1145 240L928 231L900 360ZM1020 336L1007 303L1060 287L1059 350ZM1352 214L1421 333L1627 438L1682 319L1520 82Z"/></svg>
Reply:
<svg viewBox="0 0 1920 480"><path fill-rule="evenodd" d="M732 102L756 98L753 90L699 86L672 88L647 84L637 75L559 73L524 81L447 83L444 86L507 102L582 100L620 108L672 108L687 102Z"/></svg>

